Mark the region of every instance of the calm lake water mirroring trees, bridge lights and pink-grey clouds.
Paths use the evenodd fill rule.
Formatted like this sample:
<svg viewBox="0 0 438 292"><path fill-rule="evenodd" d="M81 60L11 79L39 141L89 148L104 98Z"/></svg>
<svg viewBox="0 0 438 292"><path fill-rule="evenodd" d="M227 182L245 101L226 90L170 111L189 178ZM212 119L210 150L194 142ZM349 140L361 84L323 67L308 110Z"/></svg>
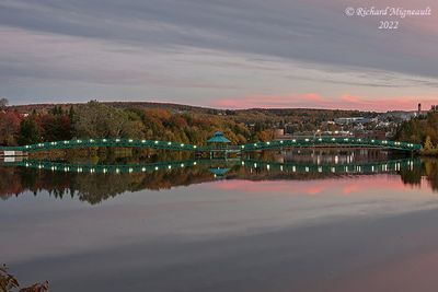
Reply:
<svg viewBox="0 0 438 292"><path fill-rule="evenodd" d="M5 163L0 262L51 291L437 291L438 162L319 156Z"/></svg>

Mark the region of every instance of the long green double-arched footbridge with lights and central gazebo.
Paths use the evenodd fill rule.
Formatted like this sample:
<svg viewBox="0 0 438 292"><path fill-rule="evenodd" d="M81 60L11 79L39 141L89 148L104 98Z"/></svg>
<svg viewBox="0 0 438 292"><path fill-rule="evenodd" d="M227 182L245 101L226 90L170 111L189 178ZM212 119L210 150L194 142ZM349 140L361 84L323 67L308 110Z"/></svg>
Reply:
<svg viewBox="0 0 438 292"><path fill-rule="evenodd" d="M401 150L415 152L422 145L388 140L344 138L344 137L316 137L297 138L285 140L273 140L267 142L254 142L240 145L231 144L207 144L195 145L172 141L137 140L137 139L77 139L66 141L53 141L20 147L0 147L0 154L8 156L8 153L24 152L33 153L59 149L74 148L142 148L155 150L191 151L191 152L254 152L261 150L281 150L290 148L377 148L389 150Z"/></svg>

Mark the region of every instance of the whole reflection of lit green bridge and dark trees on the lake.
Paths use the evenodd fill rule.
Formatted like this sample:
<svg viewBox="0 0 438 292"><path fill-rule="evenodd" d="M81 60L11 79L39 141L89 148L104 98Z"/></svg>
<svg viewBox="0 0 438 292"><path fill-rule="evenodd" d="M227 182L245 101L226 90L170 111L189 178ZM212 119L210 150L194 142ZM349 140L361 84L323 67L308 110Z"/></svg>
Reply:
<svg viewBox="0 0 438 292"><path fill-rule="evenodd" d="M431 189L438 190L438 162L420 159L324 164L233 159L120 165L5 161L0 166L0 196L7 199L27 190L35 195L47 190L55 198L78 197L99 203L126 191L170 189L217 179L304 180L381 173L399 175L411 186L419 186L425 177Z"/></svg>

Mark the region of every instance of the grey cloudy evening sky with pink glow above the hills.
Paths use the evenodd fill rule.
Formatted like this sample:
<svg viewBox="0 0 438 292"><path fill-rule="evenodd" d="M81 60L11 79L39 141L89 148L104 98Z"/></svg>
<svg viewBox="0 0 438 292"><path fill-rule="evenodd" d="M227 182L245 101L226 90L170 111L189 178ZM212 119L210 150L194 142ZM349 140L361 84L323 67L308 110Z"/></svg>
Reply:
<svg viewBox="0 0 438 292"><path fill-rule="evenodd" d="M371 7L431 12L346 15ZM13 105L438 104L436 0L0 0L0 97Z"/></svg>

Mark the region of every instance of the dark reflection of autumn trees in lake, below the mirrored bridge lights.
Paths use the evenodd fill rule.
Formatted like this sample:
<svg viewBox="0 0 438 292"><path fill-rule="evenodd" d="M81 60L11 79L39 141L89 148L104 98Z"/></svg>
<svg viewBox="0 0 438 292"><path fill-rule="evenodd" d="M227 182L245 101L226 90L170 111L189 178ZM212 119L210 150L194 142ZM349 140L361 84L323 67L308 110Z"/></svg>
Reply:
<svg viewBox="0 0 438 292"><path fill-rule="evenodd" d="M245 164L246 162L246 164ZM27 168L18 166L0 166L0 197L8 199L11 196L19 196L25 191L37 195L47 191L55 198L79 198L81 201L95 205L120 195L126 191L138 191L142 189L160 190L177 186L188 186L215 179L250 179L250 180L274 180L274 179L324 179L343 177L346 174L331 172L335 166L318 165L286 165L275 162L258 161L233 161L212 164L209 162L192 163L186 167L184 163L176 164L177 167L164 165L158 171L134 172L134 173L78 173L56 172L39 168ZM407 164L393 163L396 172L406 185L419 186L422 177L425 177L435 191L438 191L438 161L425 160L419 163L408 161ZM387 163L389 164L389 163ZM382 165L365 165L368 171L384 168ZM399 164L399 166L397 166ZM181 165L181 166L180 166ZM184 167L183 167L184 166ZM336 170L343 170L337 165ZM353 167L354 166L348 166ZM358 167L358 166L356 166ZM149 168L148 168L149 170ZM154 168L153 168L154 170ZM350 174L347 174L350 175Z"/></svg>

